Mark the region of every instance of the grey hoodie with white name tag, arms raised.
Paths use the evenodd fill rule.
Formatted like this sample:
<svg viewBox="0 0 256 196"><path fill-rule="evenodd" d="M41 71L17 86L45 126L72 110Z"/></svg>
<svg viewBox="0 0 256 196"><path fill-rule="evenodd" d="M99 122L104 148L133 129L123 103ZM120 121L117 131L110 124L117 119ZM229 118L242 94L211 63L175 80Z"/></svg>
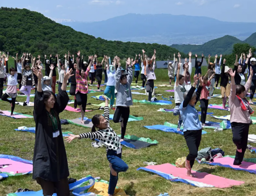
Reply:
<svg viewBox="0 0 256 196"><path fill-rule="evenodd" d="M120 83L120 77L122 74L121 67L117 68L117 73L115 76L116 84L115 88L117 90L117 100L116 106L132 106L133 99L132 99L132 92L131 92L131 83L133 81L133 70L132 67L128 67L128 76L127 76L127 83L122 85Z"/></svg>

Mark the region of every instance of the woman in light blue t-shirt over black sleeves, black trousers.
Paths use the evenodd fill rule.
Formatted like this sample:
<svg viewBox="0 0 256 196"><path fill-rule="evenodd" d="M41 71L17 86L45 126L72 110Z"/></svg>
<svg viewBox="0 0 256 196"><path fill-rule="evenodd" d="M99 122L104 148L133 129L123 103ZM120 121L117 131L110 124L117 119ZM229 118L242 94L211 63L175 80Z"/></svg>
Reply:
<svg viewBox="0 0 256 196"><path fill-rule="evenodd" d="M196 84L200 80L197 91L195 92ZM185 167L187 168L187 175L195 177L191 173L191 169L194 165L195 158L197 157L197 152L202 137L202 127L199 121L199 115L195 109L195 105L200 98L201 90L203 86L203 79L194 76L194 84L189 90L189 92L184 93L184 101L180 105L180 116L183 121L183 133L186 139L187 146L189 148L189 154L187 155Z"/></svg>

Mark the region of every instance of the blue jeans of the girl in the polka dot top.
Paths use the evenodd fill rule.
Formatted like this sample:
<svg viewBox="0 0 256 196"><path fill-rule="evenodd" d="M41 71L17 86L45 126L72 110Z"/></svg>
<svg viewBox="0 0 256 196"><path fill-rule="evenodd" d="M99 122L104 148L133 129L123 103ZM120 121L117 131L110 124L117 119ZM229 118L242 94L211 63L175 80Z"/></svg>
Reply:
<svg viewBox="0 0 256 196"><path fill-rule="evenodd" d="M107 159L112 164L112 168L117 172L117 176L113 176L110 172L108 194L114 195L115 188L118 182L118 173L126 172L128 165L122 160L122 153L117 155L117 151L108 150Z"/></svg>

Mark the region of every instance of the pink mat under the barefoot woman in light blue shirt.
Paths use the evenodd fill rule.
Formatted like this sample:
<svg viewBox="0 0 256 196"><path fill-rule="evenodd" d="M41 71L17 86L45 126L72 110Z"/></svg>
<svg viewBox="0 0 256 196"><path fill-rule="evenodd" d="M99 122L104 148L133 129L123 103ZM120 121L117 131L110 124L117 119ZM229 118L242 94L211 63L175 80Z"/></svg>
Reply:
<svg viewBox="0 0 256 196"><path fill-rule="evenodd" d="M236 181L236 180L231 180L228 178L212 175L206 172L196 172L196 171L192 171L192 173L197 177L197 178L193 178L186 175L187 173L186 168L176 168L174 165L170 163L165 163L162 165L150 165L150 166L146 166L145 168L160 171L167 174L172 174L173 176L179 177L182 179L205 183L208 185L212 185L216 188L228 188L231 186L241 185L245 183L242 181Z"/></svg>

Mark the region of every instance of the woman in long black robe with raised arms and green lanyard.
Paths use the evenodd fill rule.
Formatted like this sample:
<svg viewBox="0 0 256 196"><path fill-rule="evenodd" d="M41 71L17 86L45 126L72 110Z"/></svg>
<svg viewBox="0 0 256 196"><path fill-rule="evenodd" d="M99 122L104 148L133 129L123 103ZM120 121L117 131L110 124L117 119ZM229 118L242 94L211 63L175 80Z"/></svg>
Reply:
<svg viewBox="0 0 256 196"><path fill-rule="evenodd" d="M33 179L41 185L44 196L53 193L69 196L69 171L59 113L65 109L69 100L66 83L72 76L72 69L65 72L63 85L57 96L48 90L43 92L42 72L37 69L33 69L33 72L38 77L33 111L36 123Z"/></svg>

